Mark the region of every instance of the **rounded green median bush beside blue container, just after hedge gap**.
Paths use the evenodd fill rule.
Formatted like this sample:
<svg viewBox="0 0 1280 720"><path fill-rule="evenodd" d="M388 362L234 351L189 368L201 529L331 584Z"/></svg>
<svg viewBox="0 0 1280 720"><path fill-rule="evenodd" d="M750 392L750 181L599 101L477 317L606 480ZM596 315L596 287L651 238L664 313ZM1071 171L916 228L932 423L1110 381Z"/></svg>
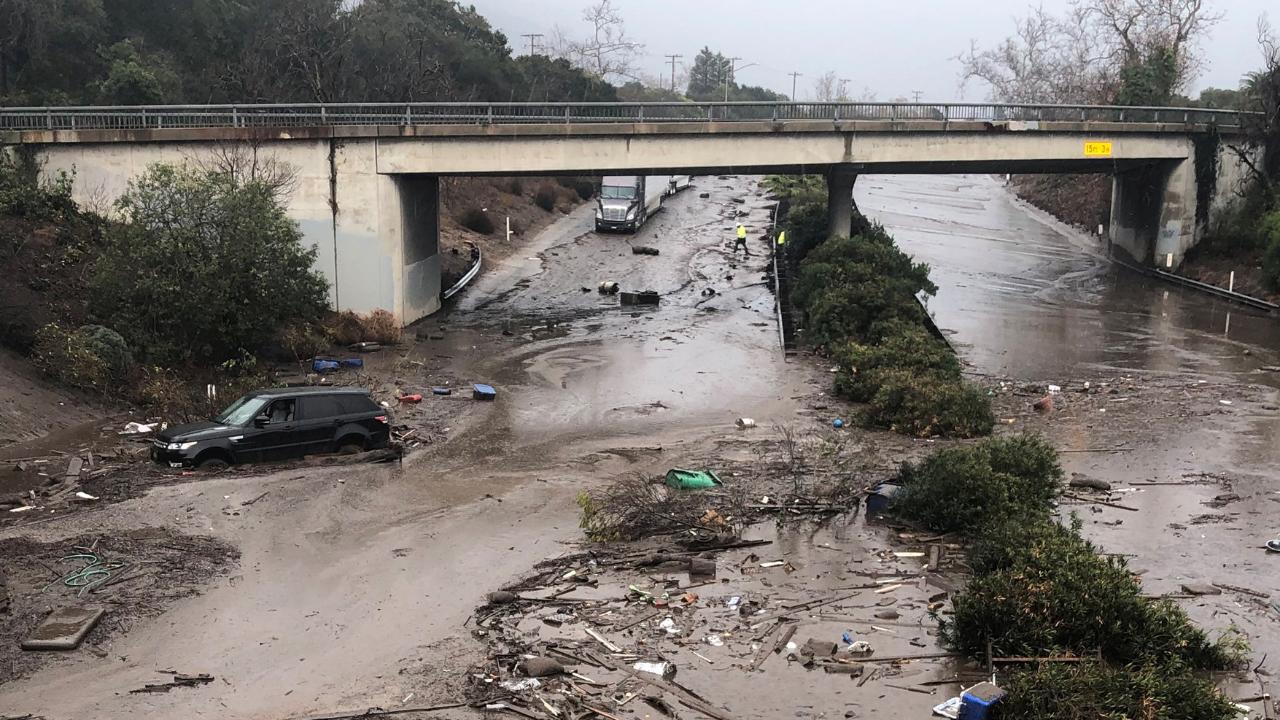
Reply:
<svg viewBox="0 0 1280 720"><path fill-rule="evenodd" d="M1002 518L1047 516L1061 480L1057 452L1043 438L987 438L904 462L893 511L936 532L978 532Z"/></svg>

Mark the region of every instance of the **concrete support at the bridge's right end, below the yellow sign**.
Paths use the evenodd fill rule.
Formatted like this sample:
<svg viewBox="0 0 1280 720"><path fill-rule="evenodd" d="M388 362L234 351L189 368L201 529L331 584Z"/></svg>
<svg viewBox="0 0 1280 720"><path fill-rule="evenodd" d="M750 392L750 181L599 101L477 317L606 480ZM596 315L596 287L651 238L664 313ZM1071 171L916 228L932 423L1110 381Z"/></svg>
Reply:
<svg viewBox="0 0 1280 720"><path fill-rule="evenodd" d="M1196 161L1190 158L1116 173L1111 247L1134 261L1172 269L1196 245Z"/></svg>

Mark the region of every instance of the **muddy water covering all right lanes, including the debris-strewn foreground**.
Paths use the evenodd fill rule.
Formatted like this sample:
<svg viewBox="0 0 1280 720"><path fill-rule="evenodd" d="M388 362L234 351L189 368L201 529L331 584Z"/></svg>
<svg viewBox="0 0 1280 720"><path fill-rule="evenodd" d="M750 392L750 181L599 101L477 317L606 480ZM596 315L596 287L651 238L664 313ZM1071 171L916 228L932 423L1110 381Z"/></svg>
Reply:
<svg viewBox="0 0 1280 720"><path fill-rule="evenodd" d="M1226 583L1270 594L1179 602L1211 634L1240 628L1275 673L1280 555L1261 546L1280 533L1280 374L1261 368L1280 364L1280 322L1111 265L1105 245L988 177L864 177L855 196L932 265L929 307L978 373L1064 387L1132 378L1135 397L1114 397L1111 414L1087 414L1068 393L1039 429L1066 450L1069 474L1110 482L1137 511L1065 510L1132 556L1149 593ZM1208 409L1188 409L1197 392L1213 393ZM1108 447L1123 450L1097 450Z"/></svg>

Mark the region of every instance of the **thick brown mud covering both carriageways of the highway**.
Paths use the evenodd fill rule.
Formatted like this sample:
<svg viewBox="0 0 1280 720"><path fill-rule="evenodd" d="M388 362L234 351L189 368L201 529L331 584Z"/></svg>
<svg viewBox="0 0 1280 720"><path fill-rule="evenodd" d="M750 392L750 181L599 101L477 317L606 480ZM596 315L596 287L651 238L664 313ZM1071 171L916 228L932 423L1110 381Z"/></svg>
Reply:
<svg viewBox="0 0 1280 720"><path fill-rule="evenodd" d="M241 552L239 568L209 578L202 594L128 633L91 634L105 657L70 653L0 684L0 712L283 719L458 702L484 660L472 611L489 591L575 550L579 492L714 457L750 464L756 451L735 428L740 416L754 418L754 433L765 437L774 423L829 428L842 409L823 395L826 368L788 361L778 347L763 284L767 246L758 240L767 202L748 178L696 184L636 236L591 232L589 206L570 213L416 328L424 340L397 368L402 386L488 382L499 396L493 404L426 398L456 405L421 410L444 425L442 439L403 465L200 478L69 521L0 532L0 541L20 533L56 546L90 530L168 528ZM933 266L941 290L929 306L977 378L997 392L1002 418L1012 421L1002 429L1047 433L1066 451L1069 473L1111 482L1120 491L1108 496L1112 503L1137 509L1071 500L1080 503L1068 509L1082 512L1091 537L1135 555L1152 593L1178 593L1194 579L1268 594L1185 602L1211 630L1240 625L1258 659L1280 657L1280 612L1270 606L1280 598L1280 556L1260 547L1276 530L1268 518L1280 498L1280 377L1261 369L1280 364L1274 319L1112 268L1097 243L1021 208L989 178L864 177L856 192L865 213ZM758 254L750 259L732 252L740 211ZM632 243L660 255L632 255ZM595 291L602 281L654 290L660 304L623 307ZM716 293L704 295L708 288ZM1089 392L1080 392L1084 382ZM1029 388L1048 383L1064 389L1056 410L1038 415ZM842 437L850 454L865 456L868 480L933 446L861 430ZM910 538L860 519L751 533L774 541L767 560L788 560L796 571L736 571L700 594L790 603L856 584L860 573L909 570L883 551ZM745 555L726 562L744 568ZM611 580L617 587L602 587L621 592L620 583L634 580L643 578L620 575ZM852 629L882 653L937 651L924 620L929 588L893 591L902 593L897 621L923 632L868 629L869 606L884 606L867 592L872 597L817 611L800 641L838 642ZM718 612L705 614L710 625ZM741 659L730 657L753 651L741 638L698 646L713 665L692 650L671 648L681 680L735 717L925 716L951 691L920 684L946 678L945 662L858 685L776 656L744 676L733 667ZM159 670L216 679L163 694L127 692L156 682ZM621 714L653 715L634 702Z"/></svg>

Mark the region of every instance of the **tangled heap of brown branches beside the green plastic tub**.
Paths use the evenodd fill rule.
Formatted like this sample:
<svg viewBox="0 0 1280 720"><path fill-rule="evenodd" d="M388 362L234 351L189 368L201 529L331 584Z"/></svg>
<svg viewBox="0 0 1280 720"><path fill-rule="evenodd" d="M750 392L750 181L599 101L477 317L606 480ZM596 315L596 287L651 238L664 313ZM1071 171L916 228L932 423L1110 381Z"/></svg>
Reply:
<svg viewBox="0 0 1280 720"><path fill-rule="evenodd" d="M724 488L678 491L662 478L637 474L579 493L579 524L593 541L630 541L689 529L737 536L745 502L740 493Z"/></svg>

